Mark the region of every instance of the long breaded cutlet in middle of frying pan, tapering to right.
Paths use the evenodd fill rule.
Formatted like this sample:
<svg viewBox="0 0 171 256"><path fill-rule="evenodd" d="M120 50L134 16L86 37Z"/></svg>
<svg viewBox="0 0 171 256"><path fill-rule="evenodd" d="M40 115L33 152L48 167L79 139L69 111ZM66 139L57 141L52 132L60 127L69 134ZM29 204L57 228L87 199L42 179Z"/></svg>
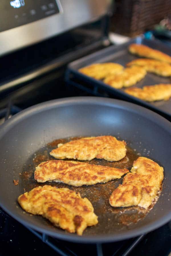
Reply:
<svg viewBox="0 0 171 256"><path fill-rule="evenodd" d="M56 181L80 187L119 179L127 172L129 172L127 169L84 162L49 160L36 167L34 179L38 182Z"/></svg>

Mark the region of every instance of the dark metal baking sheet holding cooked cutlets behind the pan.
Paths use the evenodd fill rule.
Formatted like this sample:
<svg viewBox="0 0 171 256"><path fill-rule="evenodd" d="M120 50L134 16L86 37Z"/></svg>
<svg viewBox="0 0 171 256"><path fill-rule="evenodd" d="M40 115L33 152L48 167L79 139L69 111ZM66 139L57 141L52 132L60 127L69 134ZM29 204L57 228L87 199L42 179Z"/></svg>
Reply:
<svg viewBox="0 0 171 256"><path fill-rule="evenodd" d="M78 69L90 65L92 63L103 63L103 62L116 62L123 66L129 61L133 59L137 59L136 55L129 53L128 46L132 43L137 44L145 44L153 49L158 49L168 55L171 55L171 48L162 44L160 41L157 40L147 40L142 37L137 37L129 42L119 45L119 46L110 46L106 49L100 50L96 53L88 55L84 58L78 59L68 65L68 70L74 76L79 78L79 81L85 81L88 83L93 83L97 85L98 88L102 88L106 92L111 93L113 96L117 96L127 101L131 101L134 103L138 103L140 105L146 106L158 113L164 113L166 115L171 116L171 98L168 101L160 100L156 102L145 102L138 98L135 98L127 93L124 92L124 89L115 89L111 86L105 84L102 80L96 80L86 75L83 75L78 71ZM159 84L159 83L171 83L170 77L160 77L154 75L152 73L147 73L143 80L135 84L136 87L143 87L144 85L152 85L152 84ZM85 86L85 85L84 85ZM133 87L135 87L133 86Z"/></svg>

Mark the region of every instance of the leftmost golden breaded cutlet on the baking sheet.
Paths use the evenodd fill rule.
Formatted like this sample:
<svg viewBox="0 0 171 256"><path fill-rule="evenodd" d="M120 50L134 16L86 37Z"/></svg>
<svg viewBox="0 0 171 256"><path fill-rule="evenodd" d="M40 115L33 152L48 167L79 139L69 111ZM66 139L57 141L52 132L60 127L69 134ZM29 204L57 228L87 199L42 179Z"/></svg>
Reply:
<svg viewBox="0 0 171 256"><path fill-rule="evenodd" d="M117 74L123 70L123 66L118 63L95 63L87 67L79 69L79 72L93 77L95 79L102 79L110 74Z"/></svg>

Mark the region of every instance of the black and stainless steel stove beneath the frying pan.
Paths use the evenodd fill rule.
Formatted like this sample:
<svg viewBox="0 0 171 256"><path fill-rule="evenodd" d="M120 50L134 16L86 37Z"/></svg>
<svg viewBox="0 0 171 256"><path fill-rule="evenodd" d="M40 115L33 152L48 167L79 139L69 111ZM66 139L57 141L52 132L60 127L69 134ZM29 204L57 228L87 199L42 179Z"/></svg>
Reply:
<svg viewBox="0 0 171 256"><path fill-rule="evenodd" d="M112 45L109 0L2 0L0 123L48 100L91 96L65 80L68 63ZM108 95L103 95L108 96ZM169 255L170 223L136 238L82 244L23 226L0 208L1 255Z"/></svg>

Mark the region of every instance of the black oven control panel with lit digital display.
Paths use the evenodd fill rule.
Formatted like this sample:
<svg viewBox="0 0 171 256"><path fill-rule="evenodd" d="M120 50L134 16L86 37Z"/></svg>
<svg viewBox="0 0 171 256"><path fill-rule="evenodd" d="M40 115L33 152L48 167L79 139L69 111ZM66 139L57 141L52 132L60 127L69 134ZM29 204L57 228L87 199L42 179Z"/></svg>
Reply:
<svg viewBox="0 0 171 256"><path fill-rule="evenodd" d="M56 13L56 0L0 0L0 32Z"/></svg>

